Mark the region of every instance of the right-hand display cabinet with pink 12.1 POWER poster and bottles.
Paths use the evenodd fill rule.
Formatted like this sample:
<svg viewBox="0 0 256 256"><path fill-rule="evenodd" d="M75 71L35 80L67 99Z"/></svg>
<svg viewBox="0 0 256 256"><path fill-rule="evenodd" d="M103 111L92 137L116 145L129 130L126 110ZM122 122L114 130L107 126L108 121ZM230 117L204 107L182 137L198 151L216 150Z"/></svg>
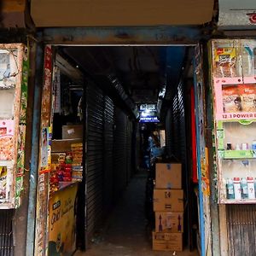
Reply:
<svg viewBox="0 0 256 256"><path fill-rule="evenodd" d="M255 40L212 41L218 202L255 203Z"/></svg>

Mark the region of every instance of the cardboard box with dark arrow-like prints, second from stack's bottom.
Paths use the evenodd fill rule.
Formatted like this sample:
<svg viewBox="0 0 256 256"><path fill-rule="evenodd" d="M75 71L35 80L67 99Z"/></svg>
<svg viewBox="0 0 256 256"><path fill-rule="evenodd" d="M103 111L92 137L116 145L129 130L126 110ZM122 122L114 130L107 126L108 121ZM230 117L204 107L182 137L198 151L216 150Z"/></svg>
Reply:
<svg viewBox="0 0 256 256"><path fill-rule="evenodd" d="M156 232L183 232L183 212L155 212Z"/></svg>

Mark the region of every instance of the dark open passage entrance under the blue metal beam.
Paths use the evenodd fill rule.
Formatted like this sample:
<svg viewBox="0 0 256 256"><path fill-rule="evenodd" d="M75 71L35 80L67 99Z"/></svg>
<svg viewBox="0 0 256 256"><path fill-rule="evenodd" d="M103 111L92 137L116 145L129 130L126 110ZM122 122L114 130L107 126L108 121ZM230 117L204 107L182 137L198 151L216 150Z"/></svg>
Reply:
<svg viewBox="0 0 256 256"><path fill-rule="evenodd" d="M194 47L49 49L49 255L197 255Z"/></svg>

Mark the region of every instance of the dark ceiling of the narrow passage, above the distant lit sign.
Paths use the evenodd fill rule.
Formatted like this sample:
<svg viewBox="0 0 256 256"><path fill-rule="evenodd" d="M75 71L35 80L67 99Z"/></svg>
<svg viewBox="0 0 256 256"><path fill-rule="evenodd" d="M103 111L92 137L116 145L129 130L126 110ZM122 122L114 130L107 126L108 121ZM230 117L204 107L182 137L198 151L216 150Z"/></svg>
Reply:
<svg viewBox="0 0 256 256"><path fill-rule="evenodd" d="M118 79L125 94L139 104L156 103L166 84L177 85L186 47L65 46L60 49L106 90L109 89L104 84L110 83L109 75Z"/></svg>

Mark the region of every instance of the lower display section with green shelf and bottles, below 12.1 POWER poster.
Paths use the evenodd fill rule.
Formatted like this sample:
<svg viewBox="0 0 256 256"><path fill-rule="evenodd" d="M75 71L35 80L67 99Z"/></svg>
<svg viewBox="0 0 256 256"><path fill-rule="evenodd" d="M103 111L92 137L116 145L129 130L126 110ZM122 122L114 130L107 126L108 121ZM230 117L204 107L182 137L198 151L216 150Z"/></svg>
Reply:
<svg viewBox="0 0 256 256"><path fill-rule="evenodd" d="M218 121L219 202L256 202L256 120Z"/></svg>

